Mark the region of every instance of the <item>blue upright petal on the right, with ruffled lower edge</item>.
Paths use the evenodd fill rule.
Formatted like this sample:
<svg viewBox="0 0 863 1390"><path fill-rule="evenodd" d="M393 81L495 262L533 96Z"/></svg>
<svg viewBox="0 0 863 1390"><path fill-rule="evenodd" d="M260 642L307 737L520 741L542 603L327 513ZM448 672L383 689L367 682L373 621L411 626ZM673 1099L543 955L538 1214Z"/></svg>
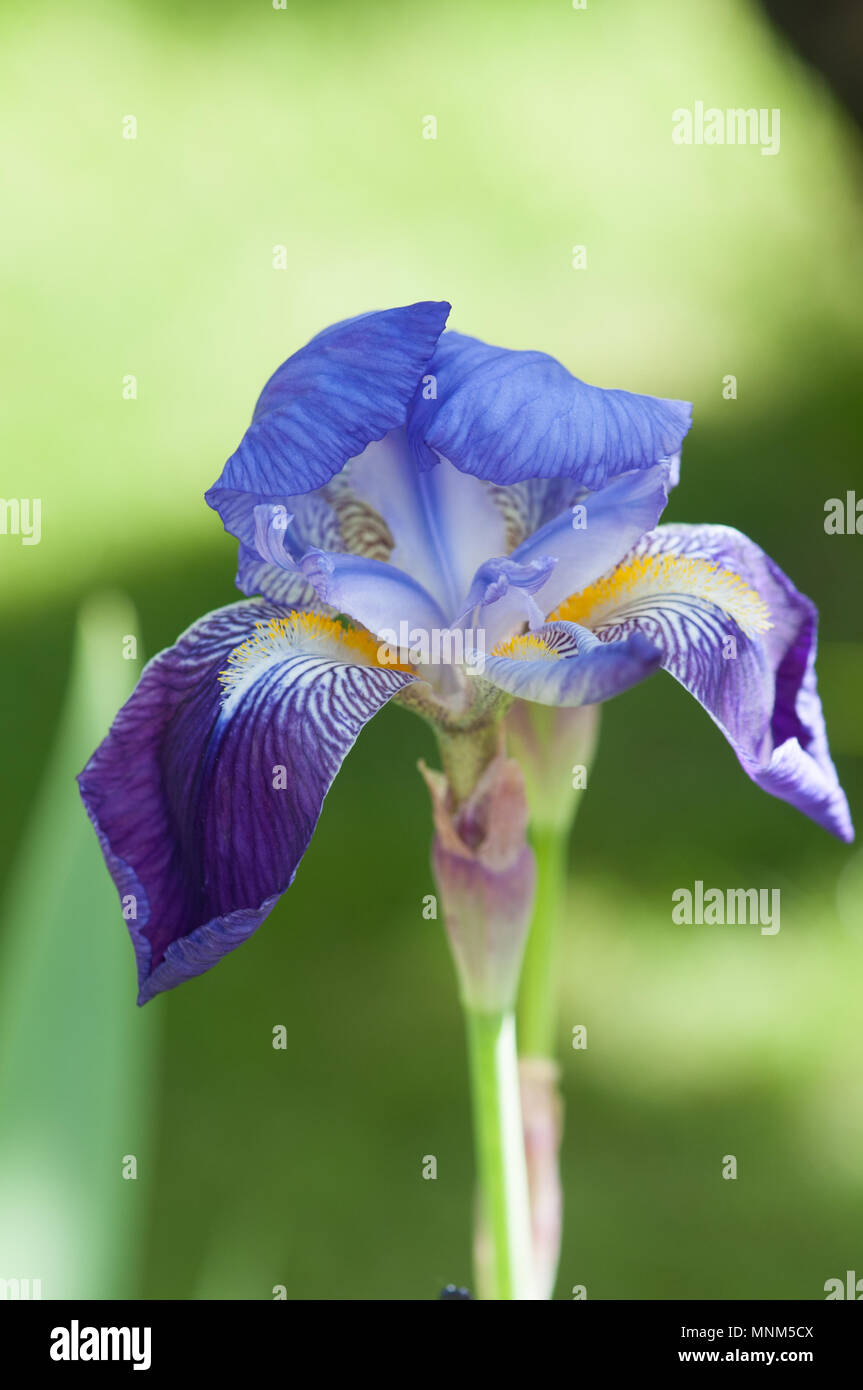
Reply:
<svg viewBox="0 0 863 1390"><path fill-rule="evenodd" d="M441 455L498 484L570 477L588 488L680 453L684 400L605 391L541 352L511 352L447 332L429 363L436 399L420 395L409 434L424 467Z"/></svg>

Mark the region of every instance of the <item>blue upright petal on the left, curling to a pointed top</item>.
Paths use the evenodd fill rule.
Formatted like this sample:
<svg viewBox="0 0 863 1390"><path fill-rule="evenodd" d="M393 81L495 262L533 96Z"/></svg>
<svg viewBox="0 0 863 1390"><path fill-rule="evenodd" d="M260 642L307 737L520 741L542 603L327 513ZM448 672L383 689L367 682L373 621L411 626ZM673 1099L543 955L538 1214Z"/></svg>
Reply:
<svg viewBox="0 0 863 1390"><path fill-rule="evenodd" d="M311 492L404 424L449 307L425 302L361 314L325 328L282 363L207 492L225 530L252 545L249 499Z"/></svg>

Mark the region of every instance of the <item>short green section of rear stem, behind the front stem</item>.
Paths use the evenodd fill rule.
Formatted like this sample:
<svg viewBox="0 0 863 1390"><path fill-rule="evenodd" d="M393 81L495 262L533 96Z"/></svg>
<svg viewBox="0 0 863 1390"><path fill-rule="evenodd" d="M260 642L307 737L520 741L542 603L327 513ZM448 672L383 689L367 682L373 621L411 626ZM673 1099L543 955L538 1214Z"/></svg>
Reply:
<svg viewBox="0 0 863 1390"><path fill-rule="evenodd" d="M568 830L543 826L532 833L536 902L521 967L518 1044L523 1056L553 1058L557 1023L557 929L567 878Z"/></svg>

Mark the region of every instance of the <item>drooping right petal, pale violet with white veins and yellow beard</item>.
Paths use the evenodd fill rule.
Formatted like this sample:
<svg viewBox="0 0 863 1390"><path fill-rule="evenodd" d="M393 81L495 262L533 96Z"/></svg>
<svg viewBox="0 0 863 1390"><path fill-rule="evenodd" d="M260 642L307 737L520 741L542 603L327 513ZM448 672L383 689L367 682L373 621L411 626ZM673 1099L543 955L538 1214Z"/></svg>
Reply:
<svg viewBox="0 0 863 1390"><path fill-rule="evenodd" d="M753 541L732 527L657 527L557 617L607 644L646 638L763 791L853 840L817 694L817 610Z"/></svg>

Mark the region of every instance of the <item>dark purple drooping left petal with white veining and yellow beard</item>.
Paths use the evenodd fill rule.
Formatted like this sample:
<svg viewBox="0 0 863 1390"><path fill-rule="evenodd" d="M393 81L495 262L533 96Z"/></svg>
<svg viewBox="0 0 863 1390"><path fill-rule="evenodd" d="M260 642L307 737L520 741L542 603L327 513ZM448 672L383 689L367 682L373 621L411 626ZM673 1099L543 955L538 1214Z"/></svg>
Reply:
<svg viewBox="0 0 863 1390"><path fill-rule="evenodd" d="M149 663L79 777L139 1004L240 945L293 881L342 759L413 680L371 662L367 637L245 602Z"/></svg>

